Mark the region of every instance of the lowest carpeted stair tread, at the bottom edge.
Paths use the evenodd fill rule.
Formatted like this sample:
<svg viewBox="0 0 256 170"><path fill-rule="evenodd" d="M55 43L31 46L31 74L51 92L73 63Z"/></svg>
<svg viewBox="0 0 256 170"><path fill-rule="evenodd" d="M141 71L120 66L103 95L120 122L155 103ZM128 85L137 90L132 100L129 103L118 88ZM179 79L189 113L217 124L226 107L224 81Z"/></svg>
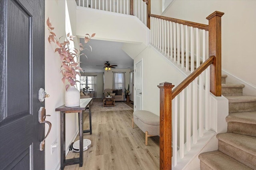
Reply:
<svg viewBox="0 0 256 170"><path fill-rule="evenodd" d="M198 158L212 170L252 170L248 166L218 150L201 153ZM208 168L205 170L208 170Z"/></svg>

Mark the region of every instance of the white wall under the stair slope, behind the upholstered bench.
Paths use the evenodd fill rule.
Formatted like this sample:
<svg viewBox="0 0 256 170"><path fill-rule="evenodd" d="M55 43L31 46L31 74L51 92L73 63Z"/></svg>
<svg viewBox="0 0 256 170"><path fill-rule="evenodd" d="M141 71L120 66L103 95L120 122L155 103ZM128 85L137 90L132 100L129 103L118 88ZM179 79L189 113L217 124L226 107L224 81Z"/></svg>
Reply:
<svg viewBox="0 0 256 170"><path fill-rule="evenodd" d="M159 115L160 90L157 86L162 82L170 82L177 86L184 80L184 75L180 74L180 72L168 64L161 54L152 46L148 46L142 51L142 53L134 59L134 64L141 60L143 72L143 110L151 111L152 113ZM134 78L134 80L136 79ZM134 82L134 85L135 83L136 82Z"/></svg>

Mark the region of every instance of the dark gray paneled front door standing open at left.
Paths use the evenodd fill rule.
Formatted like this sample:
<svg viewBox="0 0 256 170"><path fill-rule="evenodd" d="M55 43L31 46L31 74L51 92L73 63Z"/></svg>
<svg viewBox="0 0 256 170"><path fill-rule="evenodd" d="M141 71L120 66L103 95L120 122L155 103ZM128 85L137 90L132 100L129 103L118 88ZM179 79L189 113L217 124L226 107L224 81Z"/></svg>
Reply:
<svg viewBox="0 0 256 170"><path fill-rule="evenodd" d="M0 0L0 170L42 170L44 0Z"/></svg>

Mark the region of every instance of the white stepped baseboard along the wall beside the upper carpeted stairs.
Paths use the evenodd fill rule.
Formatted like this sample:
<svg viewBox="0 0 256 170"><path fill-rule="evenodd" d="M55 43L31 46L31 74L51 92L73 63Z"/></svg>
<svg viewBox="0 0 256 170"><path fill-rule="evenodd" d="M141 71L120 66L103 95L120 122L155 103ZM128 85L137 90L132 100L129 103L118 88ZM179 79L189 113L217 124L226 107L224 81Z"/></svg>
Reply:
<svg viewBox="0 0 256 170"><path fill-rule="evenodd" d="M253 84L246 82L234 74L231 74L230 72L222 69L222 74L227 74L228 77L226 78L226 83L238 83L238 84L244 84L245 87L243 88L243 95L244 96L256 96L256 86Z"/></svg>

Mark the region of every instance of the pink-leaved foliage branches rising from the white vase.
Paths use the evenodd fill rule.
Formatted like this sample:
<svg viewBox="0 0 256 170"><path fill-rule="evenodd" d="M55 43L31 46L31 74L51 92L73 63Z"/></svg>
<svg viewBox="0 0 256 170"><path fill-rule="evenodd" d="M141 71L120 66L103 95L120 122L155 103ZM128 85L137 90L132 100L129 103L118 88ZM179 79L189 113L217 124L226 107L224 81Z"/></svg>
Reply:
<svg viewBox="0 0 256 170"><path fill-rule="evenodd" d="M60 60L61 60L61 67L60 67L60 72L62 73L62 82L65 83L65 80L68 80L69 84L66 85L66 90L68 89L69 86L74 86L76 82L79 82L76 80L76 75L81 76L79 71L76 70L82 70L80 66L78 66L78 63L76 62L78 60L78 57L84 55L86 58L87 56L82 53L82 51L86 46L86 43L90 41L92 37L95 36L95 33L90 36L89 34L86 34L84 37L84 45L82 43L79 43L80 50L78 51L76 48L70 49L70 41L74 41L73 38L75 36L70 35L68 33L66 35L66 41L63 41L62 43L60 42L60 38L58 39L56 37L56 34L53 32L54 27L52 27L52 24L50 23L49 18L46 21L46 24L48 26L48 30L50 32L50 35L48 37L49 43L54 42L58 47L55 49L55 53L58 52L60 55ZM63 36L62 36L63 37ZM89 51L92 51L92 47L90 45L87 45L90 47L90 49L87 49ZM76 58L76 61L75 61ZM81 62L79 62L81 63Z"/></svg>

